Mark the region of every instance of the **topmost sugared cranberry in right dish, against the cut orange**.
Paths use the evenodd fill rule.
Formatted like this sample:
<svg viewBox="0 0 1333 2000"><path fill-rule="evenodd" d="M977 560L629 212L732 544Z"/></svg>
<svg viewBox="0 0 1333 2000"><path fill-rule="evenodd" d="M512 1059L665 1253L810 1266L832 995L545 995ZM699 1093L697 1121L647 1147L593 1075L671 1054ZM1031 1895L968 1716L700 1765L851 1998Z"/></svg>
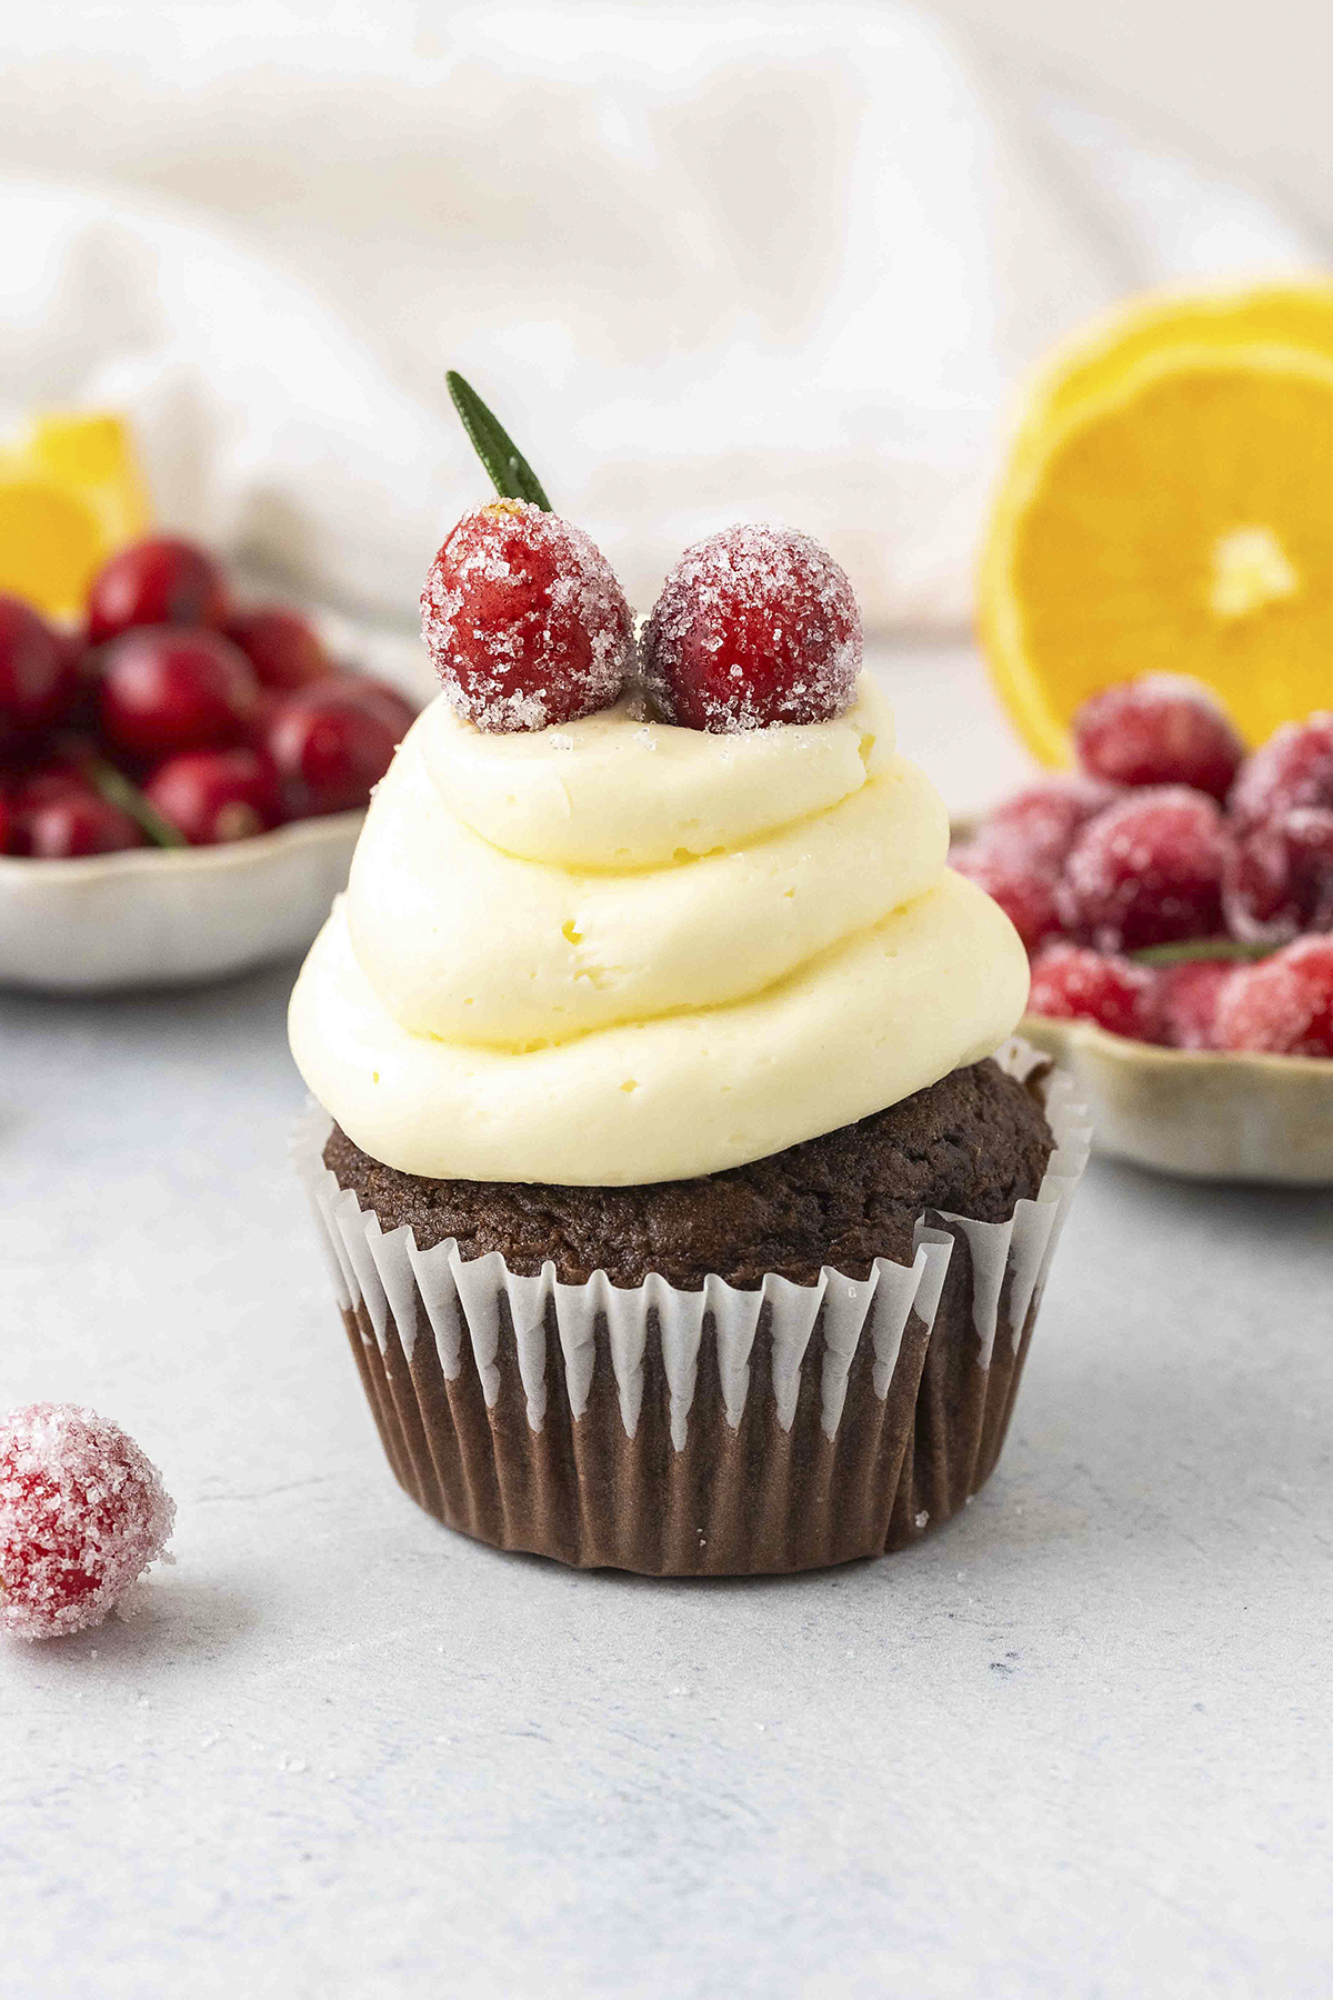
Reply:
<svg viewBox="0 0 1333 2000"><path fill-rule="evenodd" d="M1141 674L1083 702L1073 718L1079 764L1111 784L1187 784L1225 798L1245 744L1199 680Z"/></svg>

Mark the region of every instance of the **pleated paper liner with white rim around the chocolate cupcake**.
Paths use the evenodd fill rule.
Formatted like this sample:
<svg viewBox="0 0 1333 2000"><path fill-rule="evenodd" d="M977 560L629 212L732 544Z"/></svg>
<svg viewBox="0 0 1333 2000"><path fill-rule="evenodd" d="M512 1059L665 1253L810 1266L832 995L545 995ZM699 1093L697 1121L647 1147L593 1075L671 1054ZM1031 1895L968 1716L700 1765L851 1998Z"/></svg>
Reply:
<svg viewBox="0 0 1333 2000"><path fill-rule="evenodd" d="M997 1060L1041 1064L1017 1040ZM999 1458L1087 1162L1069 1082L1041 1088L1055 1152L1007 1222L923 1214L909 1266L753 1292L418 1250L338 1186L310 1106L294 1156L394 1476L450 1528L584 1568L771 1574L917 1540Z"/></svg>

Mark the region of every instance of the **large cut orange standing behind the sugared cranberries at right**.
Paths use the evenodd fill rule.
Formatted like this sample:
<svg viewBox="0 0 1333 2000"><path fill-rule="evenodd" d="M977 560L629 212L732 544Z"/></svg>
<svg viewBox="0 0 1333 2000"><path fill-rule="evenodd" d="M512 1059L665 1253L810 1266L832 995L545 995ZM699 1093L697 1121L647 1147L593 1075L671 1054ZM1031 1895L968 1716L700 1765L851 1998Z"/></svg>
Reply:
<svg viewBox="0 0 1333 2000"><path fill-rule="evenodd" d="M1029 748L1133 674L1207 682L1249 742L1333 706L1333 284L1139 302L1039 380L979 628Z"/></svg>

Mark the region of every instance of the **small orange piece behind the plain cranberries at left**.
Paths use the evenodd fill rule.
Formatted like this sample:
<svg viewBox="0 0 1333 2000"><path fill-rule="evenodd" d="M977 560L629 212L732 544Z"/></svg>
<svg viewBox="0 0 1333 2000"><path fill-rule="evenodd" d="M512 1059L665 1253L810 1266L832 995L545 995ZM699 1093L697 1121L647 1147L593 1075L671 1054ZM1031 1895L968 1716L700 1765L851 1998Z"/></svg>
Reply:
<svg viewBox="0 0 1333 2000"><path fill-rule="evenodd" d="M118 416L38 416L0 446L0 590L76 618L96 570L152 518Z"/></svg>

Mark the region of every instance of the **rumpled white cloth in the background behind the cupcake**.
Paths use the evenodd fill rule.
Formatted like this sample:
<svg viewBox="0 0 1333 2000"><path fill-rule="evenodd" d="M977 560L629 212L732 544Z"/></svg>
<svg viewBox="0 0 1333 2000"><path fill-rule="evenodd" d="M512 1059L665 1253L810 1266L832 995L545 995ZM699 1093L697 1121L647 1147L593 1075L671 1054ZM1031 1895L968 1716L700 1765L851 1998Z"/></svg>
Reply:
<svg viewBox="0 0 1333 2000"><path fill-rule="evenodd" d="M895 4L16 12L0 400L128 404L170 520L376 614L486 490L452 364L640 604L775 518L869 624L957 624L1031 360L1135 286L1319 262Z"/></svg>

